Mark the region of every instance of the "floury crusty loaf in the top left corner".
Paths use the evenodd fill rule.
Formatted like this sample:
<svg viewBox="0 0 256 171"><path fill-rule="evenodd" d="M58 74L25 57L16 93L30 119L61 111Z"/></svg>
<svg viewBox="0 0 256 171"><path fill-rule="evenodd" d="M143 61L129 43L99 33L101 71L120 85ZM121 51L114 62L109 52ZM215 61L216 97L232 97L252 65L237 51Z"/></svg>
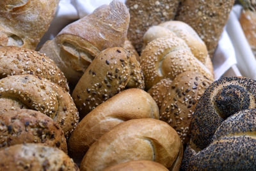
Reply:
<svg viewBox="0 0 256 171"><path fill-rule="evenodd" d="M58 3L59 0L0 1L0 46L35 50L50 26Z"/></svg>

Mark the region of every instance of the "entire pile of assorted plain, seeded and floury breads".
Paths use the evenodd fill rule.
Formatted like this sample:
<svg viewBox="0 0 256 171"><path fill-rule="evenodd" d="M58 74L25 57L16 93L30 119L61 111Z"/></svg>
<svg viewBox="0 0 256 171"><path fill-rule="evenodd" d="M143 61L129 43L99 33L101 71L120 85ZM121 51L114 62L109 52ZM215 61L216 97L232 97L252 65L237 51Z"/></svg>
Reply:
<svg viewBox="0 0 256 171"><path fill-rule="evenodd" d="M0 170L211 169L226 154L223 165L253 168L243 162L253 156L244 147L254 149L255 81L212 84L234 1L202 2L114 0L40 52L58 1L0 2ZM200 31L191 17L218 28Z"/></svg>

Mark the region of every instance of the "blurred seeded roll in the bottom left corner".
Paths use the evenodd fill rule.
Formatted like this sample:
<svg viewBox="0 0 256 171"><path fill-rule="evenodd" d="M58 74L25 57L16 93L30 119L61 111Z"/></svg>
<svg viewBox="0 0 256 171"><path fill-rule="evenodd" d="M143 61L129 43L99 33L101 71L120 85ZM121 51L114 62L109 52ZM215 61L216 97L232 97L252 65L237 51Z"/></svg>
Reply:
<svg viewBox="0 0 256 171"><path fill-rule="evenodd" d="M65 152L44 144L13 145L0 156L0 170L79 170Z"/></svg>

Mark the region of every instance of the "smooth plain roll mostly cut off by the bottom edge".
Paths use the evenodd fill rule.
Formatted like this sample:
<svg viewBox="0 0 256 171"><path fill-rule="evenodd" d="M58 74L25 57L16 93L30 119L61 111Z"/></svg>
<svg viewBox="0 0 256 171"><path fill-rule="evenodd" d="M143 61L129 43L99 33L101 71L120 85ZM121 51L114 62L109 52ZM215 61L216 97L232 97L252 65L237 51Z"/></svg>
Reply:
<svg viewBox="0 0 256 171"><path fill-rule="evenodd" d="M134 160L108 167L103 171L168 171L160 163L150 160Z"/></svg>

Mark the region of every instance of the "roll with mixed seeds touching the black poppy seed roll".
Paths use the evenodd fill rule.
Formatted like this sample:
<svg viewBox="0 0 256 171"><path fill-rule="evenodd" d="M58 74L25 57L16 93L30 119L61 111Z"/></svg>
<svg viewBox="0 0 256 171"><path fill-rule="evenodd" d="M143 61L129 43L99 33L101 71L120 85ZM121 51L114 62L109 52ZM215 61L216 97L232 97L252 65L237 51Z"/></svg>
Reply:
<svg viewBox="0 0 256 171"><path fill-rule="evenodd" d="M191 117L205 89L212 83L201 73L186 71L174 78L163 100L160 119L172 126L187 144L190 135Z"/></svg>

